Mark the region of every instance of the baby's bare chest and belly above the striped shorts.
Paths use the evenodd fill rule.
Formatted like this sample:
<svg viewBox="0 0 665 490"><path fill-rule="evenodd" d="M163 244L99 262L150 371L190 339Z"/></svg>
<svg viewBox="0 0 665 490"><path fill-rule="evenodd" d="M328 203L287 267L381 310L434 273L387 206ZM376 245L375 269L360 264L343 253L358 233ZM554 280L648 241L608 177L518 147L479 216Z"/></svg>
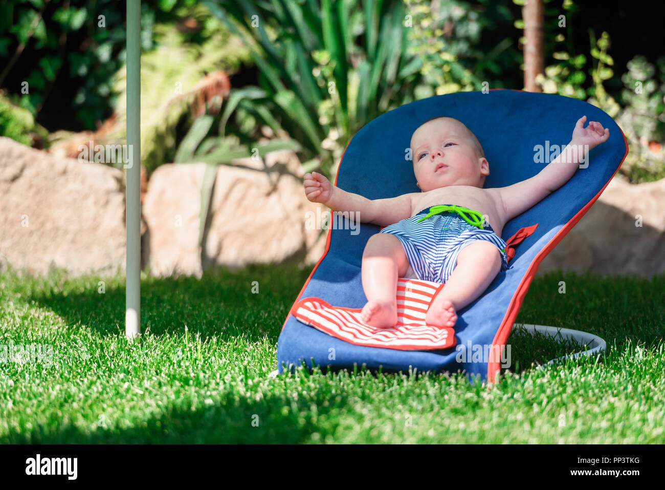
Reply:
<svg viewBox="0 0 665 490"><path fill-rule="evenodd" d="M503 216L503 208L494 189L450 186L423 192L412 199L411 216L416 216L425 208L438 204L456 204L479 211L498 236L501 236L501 232L503 232L505 216Z"/></svg>

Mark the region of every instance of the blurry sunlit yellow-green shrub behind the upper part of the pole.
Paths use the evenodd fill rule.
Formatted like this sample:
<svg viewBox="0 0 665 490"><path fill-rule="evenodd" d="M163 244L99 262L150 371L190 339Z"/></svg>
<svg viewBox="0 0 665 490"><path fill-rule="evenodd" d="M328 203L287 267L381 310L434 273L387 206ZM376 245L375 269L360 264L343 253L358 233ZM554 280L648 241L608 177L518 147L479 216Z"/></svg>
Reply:
<svg viewBox="0 0 665 490"><path fill-rule="evenodd" d="M196 120L191 112L205 75L234 73L249 61L240 40L210 17L205 7L196 5L176 13L196 19L201 29L197 34L182 33L173 23L158 23L154 25L156 47L141 57L141 162L148 174L161 164L176 161L178 146ZM109 138L118 142L125 138L124 67L114 75L114 91L118 93L114 104L118 119Z"/></svg>

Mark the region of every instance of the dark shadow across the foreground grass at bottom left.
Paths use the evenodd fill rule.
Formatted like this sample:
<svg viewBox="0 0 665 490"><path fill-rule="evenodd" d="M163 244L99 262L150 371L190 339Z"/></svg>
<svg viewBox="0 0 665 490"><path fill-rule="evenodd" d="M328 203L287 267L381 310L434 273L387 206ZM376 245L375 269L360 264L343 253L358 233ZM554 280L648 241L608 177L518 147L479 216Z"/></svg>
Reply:
<svg viewBox="0 0 665 490"><path fill-rule="evenodd" d="M29 433L11 430L3 443L25 444L136 444L136 443L281 443L307 442L313 433L321 441L334 432L334 417L325 427L317 425L317 417L328 415L346 404L346 399L330 399L329 395L285 399L266 393L260 401L227 393L219 403L198 407L194 411L185 403L169 406L164 412L135 421L130 428L105 429L106 421L95 423L94 431L71 425L39 424ZM329 405L324 405L325 401ZM316 404L313 411L311 405ZM108 421L114 426L122 421ZM102 426L100 426L102 425ZM322 430L323 429L323 430Z"/></svg>

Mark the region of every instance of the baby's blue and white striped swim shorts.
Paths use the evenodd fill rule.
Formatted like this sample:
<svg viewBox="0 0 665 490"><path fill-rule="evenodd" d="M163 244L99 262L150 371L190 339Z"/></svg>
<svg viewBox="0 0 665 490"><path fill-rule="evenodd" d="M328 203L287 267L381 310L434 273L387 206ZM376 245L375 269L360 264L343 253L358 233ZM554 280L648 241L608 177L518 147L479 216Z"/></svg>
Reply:
<svg viewBox="0 0 665 490"><path fill-rule="evenodd" d="M506 242L495 234L489 224L483 223L481 230L454 211L434 214L418 223L428 212L430 208L380 230L380 233L390 233L402 242L410 263L406 278L445 284L457 265L460 250L476 240L486 240L497 246L501 254L501 271L512 268L508 266Z"/></svg>

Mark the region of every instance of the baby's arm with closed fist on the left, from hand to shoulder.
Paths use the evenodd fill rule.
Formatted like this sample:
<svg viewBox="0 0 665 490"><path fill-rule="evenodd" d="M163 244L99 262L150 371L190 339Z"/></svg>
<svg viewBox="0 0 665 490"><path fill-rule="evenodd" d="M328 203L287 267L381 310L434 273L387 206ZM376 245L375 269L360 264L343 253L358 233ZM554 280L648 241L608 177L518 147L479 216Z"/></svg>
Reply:
<svg viewBox="0 0 665 490"><path fill-rule="evenodd" d="M307 199L311 202L321 202L332 211L357 212L355 219L363 223L388 226L411 217L411 194L370 200L332 185L330 180L318 172L305 174L303 184Z"/></svg>

